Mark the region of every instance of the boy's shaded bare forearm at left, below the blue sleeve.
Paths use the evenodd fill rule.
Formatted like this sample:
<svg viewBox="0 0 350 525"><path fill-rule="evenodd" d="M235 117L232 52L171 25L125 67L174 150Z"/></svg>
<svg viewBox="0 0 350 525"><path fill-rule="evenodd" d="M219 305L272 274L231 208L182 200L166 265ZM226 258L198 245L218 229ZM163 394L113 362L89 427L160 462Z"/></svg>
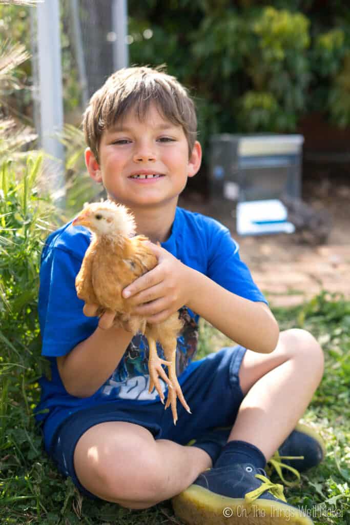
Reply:
<svg viewBox="0 0 350 525"><path fill-rule="evenodd" d="M87 339L58 357L58 371L67 392L76 397L97 392L118 366L131 339L132 333L123 328L98 325Z"/></svg>

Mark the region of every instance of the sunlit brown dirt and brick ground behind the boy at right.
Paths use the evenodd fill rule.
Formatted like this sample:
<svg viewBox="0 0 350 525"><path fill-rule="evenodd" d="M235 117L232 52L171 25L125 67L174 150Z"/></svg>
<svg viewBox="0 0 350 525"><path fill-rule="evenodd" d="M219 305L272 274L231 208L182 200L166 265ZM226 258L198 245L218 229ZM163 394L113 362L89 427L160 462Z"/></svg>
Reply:
<svg viewBox="0 0 350 525"><path fill-rule="evenodd" d="M302 198L331 216L330 235L323 244L307 242L299 233L240 237L235 203L230 201L213 202L188 193L179 205L210 215L230 229L241 259L272 306L294 306L321 290L350 299L350 176L309 177L303 180Z"/></svg>

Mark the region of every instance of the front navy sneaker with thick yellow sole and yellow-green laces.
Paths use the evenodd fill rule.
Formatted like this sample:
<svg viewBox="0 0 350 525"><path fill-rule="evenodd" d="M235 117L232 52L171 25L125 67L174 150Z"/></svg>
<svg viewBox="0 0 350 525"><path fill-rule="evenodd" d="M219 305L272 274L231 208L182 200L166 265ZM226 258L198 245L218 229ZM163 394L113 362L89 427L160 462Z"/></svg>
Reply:
<svg viewBox="0 0 350 525"><path fill-rule="evenodd" d="M190 525L312 525L288 505L283 487L249 463L204 471L172 499L176 516Z"/></svg>

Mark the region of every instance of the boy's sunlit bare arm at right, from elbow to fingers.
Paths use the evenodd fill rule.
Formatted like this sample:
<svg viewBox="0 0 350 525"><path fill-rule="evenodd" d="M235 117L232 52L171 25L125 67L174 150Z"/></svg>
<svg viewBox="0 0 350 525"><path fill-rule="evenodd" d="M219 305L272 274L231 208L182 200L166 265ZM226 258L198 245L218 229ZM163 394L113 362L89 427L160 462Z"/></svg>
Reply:
<svg viewBox="0 0 350 525"><path fill-rule="evenodd" d="M123 296L130 297L135 306L132 313L156 323L186 304L242 346L261 353L274 350L279 328L266 304L240 297L165 249L152 248L158 265L123 290Z"/></svg>

